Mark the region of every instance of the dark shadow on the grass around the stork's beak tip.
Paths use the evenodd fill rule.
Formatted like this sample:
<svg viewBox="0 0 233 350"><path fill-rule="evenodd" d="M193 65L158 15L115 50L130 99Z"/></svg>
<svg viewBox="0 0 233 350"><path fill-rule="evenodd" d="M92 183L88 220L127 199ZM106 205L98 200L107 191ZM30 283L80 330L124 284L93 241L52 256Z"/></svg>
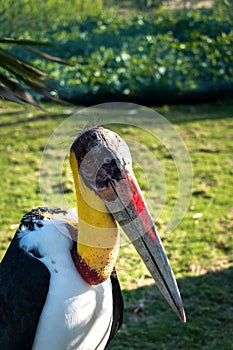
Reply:
<svg viewBox="0 0 233 350"><path fill-rule="evenodd" d="M110 349L232 349L233 268L180 279L178 284L186 324L155 287L124 291L125 322Z"/></svg>

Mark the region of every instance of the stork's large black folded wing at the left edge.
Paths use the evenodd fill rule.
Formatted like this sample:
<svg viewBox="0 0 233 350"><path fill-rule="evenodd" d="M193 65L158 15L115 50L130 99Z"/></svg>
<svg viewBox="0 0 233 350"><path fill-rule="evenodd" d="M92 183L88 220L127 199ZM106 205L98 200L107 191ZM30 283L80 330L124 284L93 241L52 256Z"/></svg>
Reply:
<svg viewBox="0 0 233 350"><path fill-rule="evenodd" d="M0 265L1 350L31 350L49 281L48 269L19 247L16 233Z"/></svg>

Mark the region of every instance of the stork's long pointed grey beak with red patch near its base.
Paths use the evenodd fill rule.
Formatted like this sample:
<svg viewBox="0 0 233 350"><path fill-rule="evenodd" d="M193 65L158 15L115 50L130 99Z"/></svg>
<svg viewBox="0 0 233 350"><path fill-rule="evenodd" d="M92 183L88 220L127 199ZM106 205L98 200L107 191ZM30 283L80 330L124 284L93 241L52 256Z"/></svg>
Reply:
<svg viewBox="0 0 233 350"><path fill-rule="evenodd" d="M111 182L99 196L135 246L156 285L182 322L186 322L180 292L161 239L132 171Z"/></svg>

